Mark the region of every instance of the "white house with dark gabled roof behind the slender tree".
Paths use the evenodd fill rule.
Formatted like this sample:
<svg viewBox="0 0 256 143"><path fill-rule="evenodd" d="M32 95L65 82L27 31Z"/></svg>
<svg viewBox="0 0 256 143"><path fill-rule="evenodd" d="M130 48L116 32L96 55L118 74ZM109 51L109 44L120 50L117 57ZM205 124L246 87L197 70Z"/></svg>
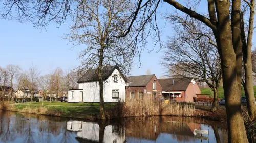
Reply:
<svg viewBox="0 0 256 143"><path fill-rule="evenodd" d="M117 65L102 68L104 86L104 102L125 102L126 78ZM97 69L90 69L78 81L79 89L70 89L68 102L99 103L99 82Z"/></svg>

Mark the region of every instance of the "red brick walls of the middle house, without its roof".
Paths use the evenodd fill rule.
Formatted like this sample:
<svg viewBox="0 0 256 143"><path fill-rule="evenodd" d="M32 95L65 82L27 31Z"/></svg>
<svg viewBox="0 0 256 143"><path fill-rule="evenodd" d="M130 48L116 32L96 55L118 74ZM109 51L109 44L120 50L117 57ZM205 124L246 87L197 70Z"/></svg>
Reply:
<svg viewBox="0 0 256 143"><path fill-rule="evenodd" d="M135 92L134 98L139 98L139 92L144 92L144 89L146 89L146 93L144 96L153 96L152 91L153 91L153 82L154 79L157 79L156 76L153 76L150 82L146 86L143 87L126 87L126 98L130 99L130 92ZM157 90L157 97L159 96L159 92L161 92L162 95L162 86L160 85L159 81L156 80L156 90ZM150 92L148 95L147 92Z"/></svg>

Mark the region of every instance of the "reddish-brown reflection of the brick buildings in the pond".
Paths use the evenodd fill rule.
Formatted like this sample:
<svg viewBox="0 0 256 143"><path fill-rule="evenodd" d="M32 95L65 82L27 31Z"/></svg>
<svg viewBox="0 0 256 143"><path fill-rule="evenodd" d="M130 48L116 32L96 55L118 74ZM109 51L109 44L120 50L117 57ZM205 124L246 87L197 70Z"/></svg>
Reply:
<svg viewBox="0 0 256 143"><path fill-rule="evenodd" d="M136 125L138 126L130 126L125 130L128 142L157 141L163 136L171 137L173 141L195 141L194 129L199 129L201 124L170 121L161 122L160 124L159 122L152 122L147 125Z"/></svg>

